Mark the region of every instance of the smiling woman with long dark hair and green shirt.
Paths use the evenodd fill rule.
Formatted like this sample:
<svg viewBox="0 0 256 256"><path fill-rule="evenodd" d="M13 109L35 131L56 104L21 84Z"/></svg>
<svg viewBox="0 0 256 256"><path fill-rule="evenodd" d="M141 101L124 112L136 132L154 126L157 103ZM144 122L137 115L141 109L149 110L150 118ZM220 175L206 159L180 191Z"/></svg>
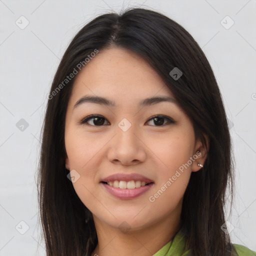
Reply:
<svg viewBox="0 0 256 256"><path fill-rule="evenodd" d="M47 255L256 255L223 228L232 161L219 88L192 36L143 8L94 18L48 95Z"/></svg>

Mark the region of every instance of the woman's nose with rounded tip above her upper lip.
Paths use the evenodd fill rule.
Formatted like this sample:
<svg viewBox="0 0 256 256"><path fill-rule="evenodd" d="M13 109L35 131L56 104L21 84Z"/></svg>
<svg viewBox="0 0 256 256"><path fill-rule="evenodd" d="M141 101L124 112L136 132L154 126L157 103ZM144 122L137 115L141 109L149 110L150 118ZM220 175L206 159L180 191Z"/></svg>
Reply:
<svg viewBox="0 0 256 256"><path fill-rule="evenodd" d="M107 158L115 164L134 165L146 159L146 145L142 134L130 126L126 131L119 126L116 134L109 141Z"/></svg>

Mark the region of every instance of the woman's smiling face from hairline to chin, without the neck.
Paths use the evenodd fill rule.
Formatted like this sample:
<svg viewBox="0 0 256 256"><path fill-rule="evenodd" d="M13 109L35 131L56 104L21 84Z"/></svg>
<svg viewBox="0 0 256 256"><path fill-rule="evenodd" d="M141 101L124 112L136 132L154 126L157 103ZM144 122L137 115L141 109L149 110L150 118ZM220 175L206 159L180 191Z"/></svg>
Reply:
<svg viewBox="0 0 256 256"><path fill-rule="evenodd" d="M104 97L115 105L80 100L85 96ZM153 97L173 100L140 104ZM134 230L177 218L190 173L203 164L202 154L196 154L201 143L171 91L149 64L116 47L100 50L76 75L65 148L73 187L93 217Z"/></svg>

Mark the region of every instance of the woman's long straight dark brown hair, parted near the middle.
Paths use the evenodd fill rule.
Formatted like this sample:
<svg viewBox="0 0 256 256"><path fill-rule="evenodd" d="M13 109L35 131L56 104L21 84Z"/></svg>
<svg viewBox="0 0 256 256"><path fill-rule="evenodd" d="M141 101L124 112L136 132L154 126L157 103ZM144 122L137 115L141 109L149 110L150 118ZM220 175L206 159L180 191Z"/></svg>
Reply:
<svg viewBox="0 0 256 256"><path fill-rule="evenodd" d="M213 71L201 48L181 25L153 10L129 8L119 14L99 15L83 26L67 47L51 85L37 184L47 256L90 256L97 244L92 214L67 178L64 122L74 79L64 85L63 80L95 49L113 46L132 50L147 61L191 119L196 138L206 146L202 134L209 137L204 166L191 173L184 193L181 221L186 246L193 255L230 255L229 235L220 227L225 222L227 187L232 204L233 156ZM177 80L169 74L174 67L182 71Z"/></svg>

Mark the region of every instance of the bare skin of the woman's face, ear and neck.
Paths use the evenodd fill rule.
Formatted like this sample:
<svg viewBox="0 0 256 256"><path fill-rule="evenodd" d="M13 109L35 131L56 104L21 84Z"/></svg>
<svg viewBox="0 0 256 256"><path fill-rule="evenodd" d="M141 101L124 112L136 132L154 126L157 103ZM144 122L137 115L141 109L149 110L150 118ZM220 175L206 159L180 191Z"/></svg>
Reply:
<svg viewBox="0 0 256 256"><path fill-rule="evenodd" d="M86 102L73 108L85 94L114 100L117 107ZM138 106L140 100L158 95L174 98L147 62L123 48L100 50L75 77L65 119L65 166L79 173L72 184L93 215L98 244L91 256L152 255L180 227L183 194L191 172L201 168L197 163L204 163L206 148L195 140L192 123L178 104ZM93 118L87 124L79 123L90 114L105 118L101 126ZM150 120L156 114L175 123L163 119L167 124L157 125ZM127 131L118 126L123 118L131 123ZM198 158L158 198L149 201L197 151L201 152ZM118 172L140 173L154 184L134 199L119 199L99 183ZM118 227L123 221L128 232Z"/></svg>

